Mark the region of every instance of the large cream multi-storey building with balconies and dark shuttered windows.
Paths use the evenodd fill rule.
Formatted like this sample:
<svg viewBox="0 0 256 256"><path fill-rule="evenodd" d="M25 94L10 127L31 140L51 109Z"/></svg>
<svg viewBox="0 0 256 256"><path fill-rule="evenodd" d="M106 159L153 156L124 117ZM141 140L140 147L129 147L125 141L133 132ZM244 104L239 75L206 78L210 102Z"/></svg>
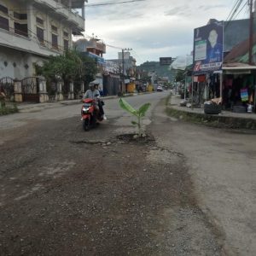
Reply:
<svg viewBox="0 0 256 256"><path fill-rule="evenodd" d="M0 79L32 77L35 64L71 48L84 32L84 2L0 0Z"/></svg>

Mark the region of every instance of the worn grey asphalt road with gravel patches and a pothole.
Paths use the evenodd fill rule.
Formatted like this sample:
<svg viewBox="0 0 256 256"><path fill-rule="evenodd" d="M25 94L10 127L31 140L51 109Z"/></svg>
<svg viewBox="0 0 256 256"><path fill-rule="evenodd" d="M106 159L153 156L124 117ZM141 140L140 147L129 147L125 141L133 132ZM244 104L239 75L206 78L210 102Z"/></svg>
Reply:
<svg viewBox="0 0 256 256"><path fill-rule="evenodd" d="M167 117L167 94L126 98L152 104L141 142L118 99L90 132L79 105L0 117L0 254L255 255L256 136Z"/></svg>

